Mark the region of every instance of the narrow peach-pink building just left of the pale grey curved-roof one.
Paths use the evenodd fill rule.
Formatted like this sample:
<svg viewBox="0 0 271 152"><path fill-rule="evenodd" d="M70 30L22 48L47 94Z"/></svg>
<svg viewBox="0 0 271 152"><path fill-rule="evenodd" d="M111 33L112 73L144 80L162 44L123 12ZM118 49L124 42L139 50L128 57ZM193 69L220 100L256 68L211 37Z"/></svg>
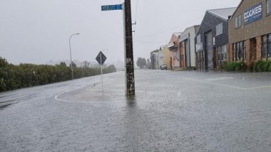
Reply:
<svg viewBox="0 0 271 152"><path fill-rule="evenodd" d="M179 38L182 33L173 33L168 45L168 50L170 50L170 67L172 70L180 68L180 45Z"/></svg>

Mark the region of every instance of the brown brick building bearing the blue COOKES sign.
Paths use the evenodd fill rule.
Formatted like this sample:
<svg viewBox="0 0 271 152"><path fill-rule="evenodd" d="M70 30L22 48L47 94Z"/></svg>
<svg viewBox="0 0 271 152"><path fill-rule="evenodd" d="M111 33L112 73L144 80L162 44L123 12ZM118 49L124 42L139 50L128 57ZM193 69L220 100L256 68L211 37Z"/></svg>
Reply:
<svg viewBox="0 0 271 152"><path fill-rule="evenodd" d="M229 61L271 59L271 0L242 0L229 21Z"/></svg>

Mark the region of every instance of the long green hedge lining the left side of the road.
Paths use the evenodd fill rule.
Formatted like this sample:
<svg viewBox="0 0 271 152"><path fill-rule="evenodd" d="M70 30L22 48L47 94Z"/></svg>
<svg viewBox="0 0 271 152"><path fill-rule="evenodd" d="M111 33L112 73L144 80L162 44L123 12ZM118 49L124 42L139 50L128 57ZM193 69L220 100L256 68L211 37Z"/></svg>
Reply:
<svg viewBox="0 0 271 152"><path fill-rule="evenodd" d="M116 72L114 65L106 67L103 73ZM101 75L99 68L74 67L75 79ZM0 92L23 87L46 85L71 80L71 68L61 65L12 65L0 57Z"/></svg>

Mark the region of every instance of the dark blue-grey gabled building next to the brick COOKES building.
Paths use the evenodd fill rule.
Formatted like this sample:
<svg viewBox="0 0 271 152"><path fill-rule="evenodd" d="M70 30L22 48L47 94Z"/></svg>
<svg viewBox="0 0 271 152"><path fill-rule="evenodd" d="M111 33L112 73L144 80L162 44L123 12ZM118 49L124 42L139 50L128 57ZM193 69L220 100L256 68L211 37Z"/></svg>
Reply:
<svg viewBox="0 0 271 152"><path fill-rule="evenodd" d="M227 61L228 19L235 9L206 11L195 37L197 70L213 70Z"/></svg>

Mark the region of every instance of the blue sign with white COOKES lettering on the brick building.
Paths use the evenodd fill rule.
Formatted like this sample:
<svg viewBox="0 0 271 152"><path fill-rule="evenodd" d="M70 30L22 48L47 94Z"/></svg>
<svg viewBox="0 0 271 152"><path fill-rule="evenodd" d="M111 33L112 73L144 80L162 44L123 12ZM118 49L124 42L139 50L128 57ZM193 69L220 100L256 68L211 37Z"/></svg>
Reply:
<svg viewBox="0 0 271 152"><path fill-rule="evenodd" d="M244 24L249 24L262 19L262 2L252 6L244 12Z"/></svg>

